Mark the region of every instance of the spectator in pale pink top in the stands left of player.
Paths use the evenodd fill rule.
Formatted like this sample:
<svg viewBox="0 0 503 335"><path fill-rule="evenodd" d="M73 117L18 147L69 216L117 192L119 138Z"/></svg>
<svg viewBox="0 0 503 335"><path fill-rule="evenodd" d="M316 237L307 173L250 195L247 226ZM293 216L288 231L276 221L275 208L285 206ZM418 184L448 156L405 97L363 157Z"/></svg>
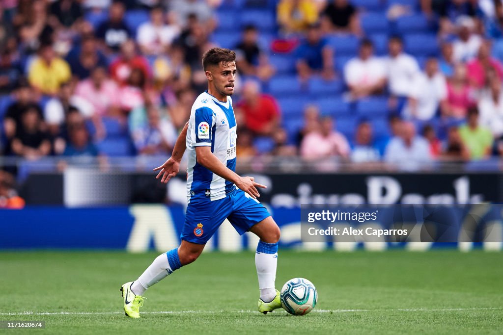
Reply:
<svg viewBox="0 0 503 335"><path fill-rule="evenodd" d="M86 99L100 116L117 115L119 109L119 88L114 80L108 78L104 67L96 67L91 76L82 80L75 88L75 95Z"/></svg>

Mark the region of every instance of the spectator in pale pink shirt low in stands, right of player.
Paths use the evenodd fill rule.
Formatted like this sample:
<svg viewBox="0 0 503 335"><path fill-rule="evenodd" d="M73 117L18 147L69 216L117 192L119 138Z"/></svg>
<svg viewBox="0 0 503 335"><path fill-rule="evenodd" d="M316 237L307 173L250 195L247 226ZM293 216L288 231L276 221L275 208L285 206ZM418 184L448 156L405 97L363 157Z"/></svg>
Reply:
<svg viewBox="0 0 503 335"><path fill-rule="evenodd" d="M339 156L347 158L350 146L346 137L333 130L333 119L325 116L321 119L319 131L307 134L300 144L302 158L314 160Z"/></svg>

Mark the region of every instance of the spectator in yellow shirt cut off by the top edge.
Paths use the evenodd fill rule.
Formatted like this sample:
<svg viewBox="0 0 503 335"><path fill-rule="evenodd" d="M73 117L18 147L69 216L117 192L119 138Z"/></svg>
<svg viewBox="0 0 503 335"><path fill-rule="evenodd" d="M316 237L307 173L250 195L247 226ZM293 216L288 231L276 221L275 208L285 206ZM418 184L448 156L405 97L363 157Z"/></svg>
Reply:
<svg viewBox="0 0 503 335"><path fill-rule="evenodd" d="M318 9L312 0L281 0L278 23L285 33L302 32L318 21Z"/></svg>

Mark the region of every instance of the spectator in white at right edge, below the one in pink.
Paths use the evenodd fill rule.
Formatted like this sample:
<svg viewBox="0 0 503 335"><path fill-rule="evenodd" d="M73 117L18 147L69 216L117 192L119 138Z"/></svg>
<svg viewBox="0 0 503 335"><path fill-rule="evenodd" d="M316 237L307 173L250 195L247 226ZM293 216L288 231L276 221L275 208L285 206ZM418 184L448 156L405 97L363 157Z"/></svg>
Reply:
<svg viewBox="0 0 503 335"><path fill-rule="evenodd" d="M497 75L489 79L486 88L478 101L480 125L489 128L496 138L503 136L503 92Z"/></svg>

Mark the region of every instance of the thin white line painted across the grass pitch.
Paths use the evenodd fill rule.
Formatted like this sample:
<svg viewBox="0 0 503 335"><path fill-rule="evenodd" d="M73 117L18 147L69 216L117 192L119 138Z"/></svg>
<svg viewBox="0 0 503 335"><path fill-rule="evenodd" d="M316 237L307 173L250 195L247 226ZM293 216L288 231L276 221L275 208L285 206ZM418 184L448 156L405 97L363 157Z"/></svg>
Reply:
<svg viewBox="0 0 503 335"><path fill-rule="evenodd" d="M314 309L318 313L351 313L351 312L450 312L450 311L468 311L468 310L502 310L503 307L473 307L473 308L394 308L394 309ZM212 310L181 310L181 311L152 311L142 312L142 314L214 314L214 313L255 313L255 310L237 310L237 311L212 311ZM113 312L8 312L0 315L109 315L124 314L122 311Z"/></svg>

